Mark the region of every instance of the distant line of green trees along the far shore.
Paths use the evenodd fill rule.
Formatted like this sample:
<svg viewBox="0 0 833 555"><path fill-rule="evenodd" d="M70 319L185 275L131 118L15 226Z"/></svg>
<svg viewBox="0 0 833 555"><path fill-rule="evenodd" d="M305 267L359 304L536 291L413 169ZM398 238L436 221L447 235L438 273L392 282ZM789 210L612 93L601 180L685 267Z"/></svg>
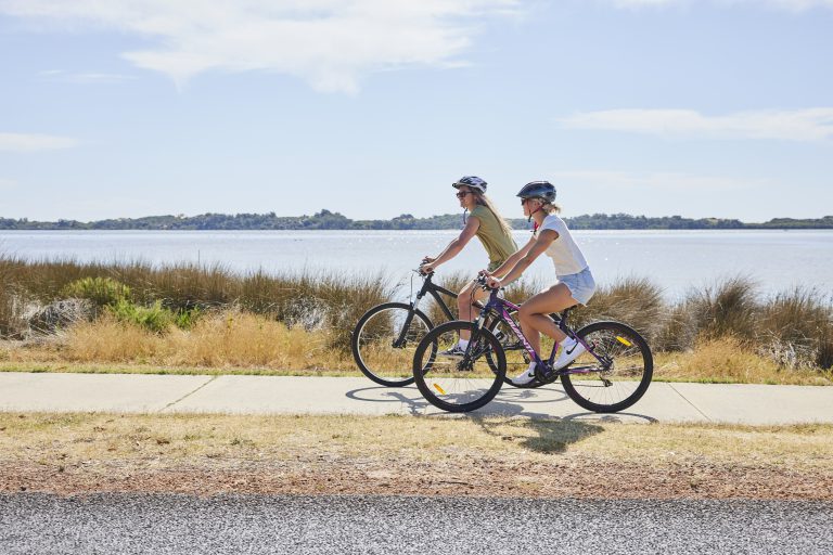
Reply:
<svg viewBox="0 0 833 555"><path fill-rule="evenodd" d="M514 229L529 229L525 218L509 220ZM739 230L739 229L833 229L833 216L819 219L776 218L764 223L744 223L721 218L649 218L628 214L593 214L565 218L575 230ZM148 216L80 222L76 220L30 221L0 218L0 230L452 230L460 229L460 214L414 218L410 214L390 220L351 220L338 212L321 210L312 216L268 214L201 214L198 216Z"/></svg>

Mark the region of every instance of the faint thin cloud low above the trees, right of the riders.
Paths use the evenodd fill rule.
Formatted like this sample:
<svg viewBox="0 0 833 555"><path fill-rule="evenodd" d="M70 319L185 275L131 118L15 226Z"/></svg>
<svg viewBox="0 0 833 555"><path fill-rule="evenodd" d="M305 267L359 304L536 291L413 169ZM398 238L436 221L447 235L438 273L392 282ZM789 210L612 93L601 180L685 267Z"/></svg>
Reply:
<svg viewBox="0 0 833 555"><path fill-rule="evenodd" d="M680 192L726 192L729 190L744 190L766 185L761 180L736 179L720 176L694 176L691 173L672 171L636 172L573 170L556 171L553 172L552 176L554 176L556 183L564 182L565 184L623 189L672 190Z"/></svg>

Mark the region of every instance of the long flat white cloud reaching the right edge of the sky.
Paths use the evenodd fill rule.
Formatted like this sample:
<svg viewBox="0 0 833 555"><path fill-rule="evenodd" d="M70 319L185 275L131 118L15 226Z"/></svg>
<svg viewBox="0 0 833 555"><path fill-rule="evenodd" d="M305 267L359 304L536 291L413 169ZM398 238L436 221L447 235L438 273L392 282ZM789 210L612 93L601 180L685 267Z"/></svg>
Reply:
<svg viewBox="0 0 833 555"><path fill-rule="evenodd" d="M833 108L740 112L704 116L693 109L608 109L558 119L571 129L594 129L717 139L823 141L833 137Z"/></svg>

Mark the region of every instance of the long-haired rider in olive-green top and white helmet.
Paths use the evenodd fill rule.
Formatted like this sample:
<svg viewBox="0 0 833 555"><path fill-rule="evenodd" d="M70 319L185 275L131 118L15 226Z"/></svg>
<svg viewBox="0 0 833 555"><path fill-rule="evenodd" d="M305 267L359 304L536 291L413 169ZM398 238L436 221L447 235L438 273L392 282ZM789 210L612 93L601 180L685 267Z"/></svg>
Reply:
<svg viewBox="0 0 833 555"><path fill-rule="evenodd" d="M451 183L457 189L457 197L460 206L470 212L465 227L460 236L451 241L448 246L436 257L426 256L422 260L420 270L430 273L436 268L456 257L472 237L477 236L489 256L489 270L498 268L517 249L517 244L512 238L512 228L500 217L495 205L486 196L486 181L475 176L465 176ZM465 214L465 211L463 214ZM488 295L474 282L462 288L457 297L457 306L460 320L474 320L479 311L472 306L475 300L485 299ZM446 356L460 356L469 345L469 333L460 334L457 346L441 353Z"/></svg>

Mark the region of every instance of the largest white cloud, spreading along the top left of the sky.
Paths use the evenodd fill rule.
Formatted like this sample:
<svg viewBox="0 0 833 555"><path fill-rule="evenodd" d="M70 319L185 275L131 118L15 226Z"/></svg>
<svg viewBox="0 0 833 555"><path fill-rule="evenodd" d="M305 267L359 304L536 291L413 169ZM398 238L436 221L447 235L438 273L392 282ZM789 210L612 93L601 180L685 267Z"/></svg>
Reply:
<svg viewBox="0 0 833 555"><path fill-rule="evenodd" d="M0 12L60 29L107 29L156 41L123 55L178 85L208 72L289 74L321 91L355 92L362 75L444 66L485 16L520 0L0 0Z"/></svg>

